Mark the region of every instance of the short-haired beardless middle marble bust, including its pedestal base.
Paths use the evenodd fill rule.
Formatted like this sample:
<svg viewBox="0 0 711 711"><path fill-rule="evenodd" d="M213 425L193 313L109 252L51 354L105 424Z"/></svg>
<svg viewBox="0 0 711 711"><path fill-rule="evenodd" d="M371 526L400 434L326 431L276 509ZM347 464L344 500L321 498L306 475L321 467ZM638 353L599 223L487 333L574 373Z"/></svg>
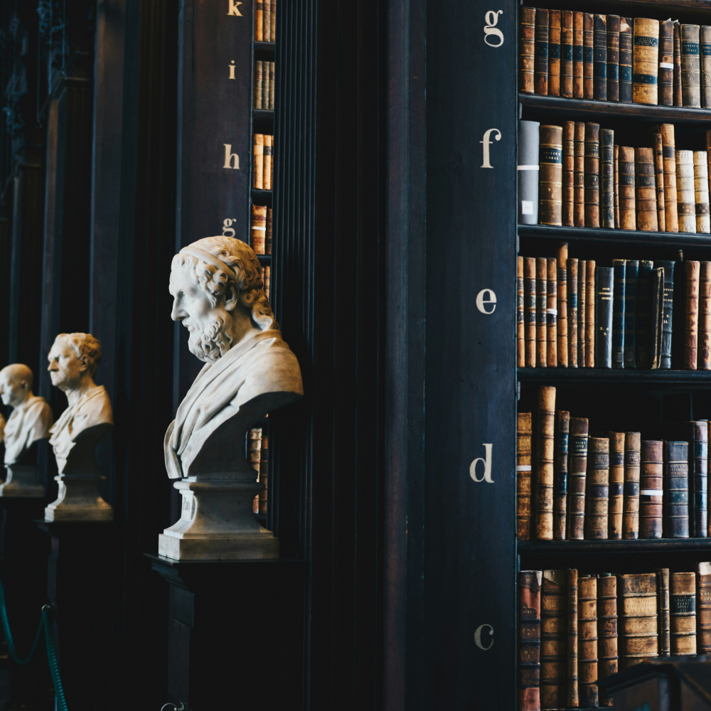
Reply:
<svg viewBox="0 0 711 711"><path fill-rule="evenodd" d="M67 396L68 407L50 429L57 460L57 501L45 509L46 520L112 520L113 510L99 495L103 479L94 451L114 427L109 396L94 375L101 343L90 333L60 333L48 355L52 385Z"/></svg>

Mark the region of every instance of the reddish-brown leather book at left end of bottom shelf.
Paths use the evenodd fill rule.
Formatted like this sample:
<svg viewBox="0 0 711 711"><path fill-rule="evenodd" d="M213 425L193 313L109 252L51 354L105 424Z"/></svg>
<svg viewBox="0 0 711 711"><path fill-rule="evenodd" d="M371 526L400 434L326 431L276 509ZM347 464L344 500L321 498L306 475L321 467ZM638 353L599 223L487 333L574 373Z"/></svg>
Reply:
<svg viewBox="0 0 711 711"><path fill-rule="evenodd" d="M518 574L518 711L540 711L540 587L542 571Z"/></svg>

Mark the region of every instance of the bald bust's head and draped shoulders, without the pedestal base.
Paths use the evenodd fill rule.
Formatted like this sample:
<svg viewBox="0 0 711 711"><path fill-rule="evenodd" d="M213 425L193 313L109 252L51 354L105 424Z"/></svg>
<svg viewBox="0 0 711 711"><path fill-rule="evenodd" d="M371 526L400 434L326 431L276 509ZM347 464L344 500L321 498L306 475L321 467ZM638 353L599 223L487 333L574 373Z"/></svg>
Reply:
<svg viewBox="0 0 711 711"><path fill-rule="evenodd" d="M32 381L32 371L21 363L0 370L0 397L13 408L7 424L3 421L5 464L21 464L35 442L49 437L52 409L43 397L33 395Z"/></svg>

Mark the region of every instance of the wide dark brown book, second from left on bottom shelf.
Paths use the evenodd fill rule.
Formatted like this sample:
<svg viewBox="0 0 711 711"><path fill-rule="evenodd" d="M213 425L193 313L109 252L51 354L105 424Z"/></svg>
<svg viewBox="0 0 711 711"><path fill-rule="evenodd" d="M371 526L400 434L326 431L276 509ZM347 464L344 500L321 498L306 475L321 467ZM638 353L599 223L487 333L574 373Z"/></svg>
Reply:
<svg viewBox="0 0 711 711"><path fill-rule="evenodd" d="M565 570L544 570L540 599L540 707L565 706L567 630Z"/></svg>

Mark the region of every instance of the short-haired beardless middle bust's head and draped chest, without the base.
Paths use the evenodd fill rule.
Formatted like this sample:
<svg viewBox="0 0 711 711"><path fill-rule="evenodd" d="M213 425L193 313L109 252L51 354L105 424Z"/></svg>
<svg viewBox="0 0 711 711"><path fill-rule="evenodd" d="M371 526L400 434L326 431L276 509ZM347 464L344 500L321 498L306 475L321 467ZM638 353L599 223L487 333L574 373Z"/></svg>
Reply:
<svg viewBox="0 0 711 711"><path fill-rule="evenodd" d="M69 406L50 433L60 474L65 469L96 469L96 443L113 429L114 417L109 395L94 382L101 360L101 343L90 333L60 333L47 356L52 385L63 390ZM77 442L86 446L71 456Z"/></svg>

